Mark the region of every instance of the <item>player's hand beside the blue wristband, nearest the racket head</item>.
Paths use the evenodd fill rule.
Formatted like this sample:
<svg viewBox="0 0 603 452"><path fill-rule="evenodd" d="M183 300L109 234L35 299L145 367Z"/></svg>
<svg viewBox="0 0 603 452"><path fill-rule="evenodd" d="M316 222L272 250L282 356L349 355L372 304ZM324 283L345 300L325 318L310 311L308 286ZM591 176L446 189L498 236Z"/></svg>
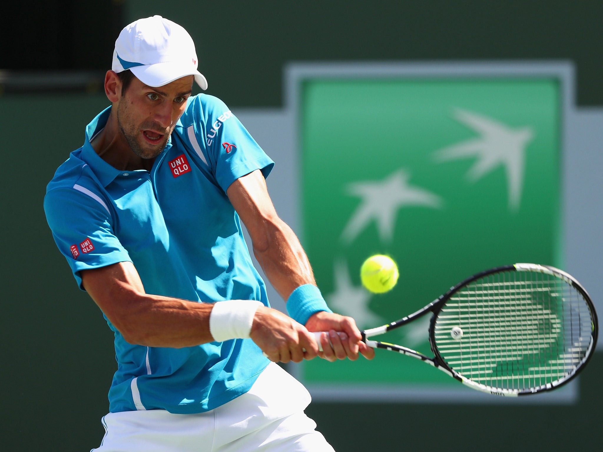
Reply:
<svg viewBox="0 0 603 452"><path fill-rule="evenodd" d="M336 359L358 359L362 354L366 359L373 359L375 351L372 347L362 342L362 336L356 322L351 317L334 314L326 311L317 312L306 322L308 331L327 331L321 337L323 351L318 356L329 361ZM330 342L330 343L329 343Z"/></svg>

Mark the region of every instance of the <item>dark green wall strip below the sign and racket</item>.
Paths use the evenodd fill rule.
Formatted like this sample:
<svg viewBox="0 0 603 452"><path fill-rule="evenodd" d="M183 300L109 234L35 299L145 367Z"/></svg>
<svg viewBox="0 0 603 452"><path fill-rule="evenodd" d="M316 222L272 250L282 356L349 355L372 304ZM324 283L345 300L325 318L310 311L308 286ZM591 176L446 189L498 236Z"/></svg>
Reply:
<svg viewBox="0 0 603 452"><path fill-rule="evenodd" d="M603 359L596 353L578 377L580 396L574 405L314 402L306 414L336 451L431 451L446 445L492 452L597 450L601 371Z"/></svg>

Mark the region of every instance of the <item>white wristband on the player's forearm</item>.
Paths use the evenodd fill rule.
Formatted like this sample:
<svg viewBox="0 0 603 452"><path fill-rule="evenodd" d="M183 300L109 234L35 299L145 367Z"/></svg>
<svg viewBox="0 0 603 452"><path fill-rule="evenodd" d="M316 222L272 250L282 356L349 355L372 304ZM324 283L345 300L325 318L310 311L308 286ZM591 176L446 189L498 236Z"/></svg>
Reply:
<svg viewBox="0 0 603 452"><path fill-rule="evenodd" d="M209 315L209 332L217 342L247 339L257 308L264 306L254 300L227 300L213 304Z"/></svg>

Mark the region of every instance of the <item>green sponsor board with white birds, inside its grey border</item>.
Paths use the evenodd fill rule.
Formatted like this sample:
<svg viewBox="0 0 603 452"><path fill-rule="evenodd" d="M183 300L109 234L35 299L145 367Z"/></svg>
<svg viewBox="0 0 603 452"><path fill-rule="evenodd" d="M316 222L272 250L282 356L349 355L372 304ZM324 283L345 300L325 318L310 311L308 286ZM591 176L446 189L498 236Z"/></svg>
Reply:
<svg viewBox="0 0 603 452"><path fill-rule="evenodd" d="M303 237L330 307L376 327L484 269L562 266L560 97L555 78L306 79ZM372 254L398 263L391 292L361 287ZM380 340L431 354L428 317ZM373 362L315 359L302 374L311 385L458 385L384 351Z"/></svg>

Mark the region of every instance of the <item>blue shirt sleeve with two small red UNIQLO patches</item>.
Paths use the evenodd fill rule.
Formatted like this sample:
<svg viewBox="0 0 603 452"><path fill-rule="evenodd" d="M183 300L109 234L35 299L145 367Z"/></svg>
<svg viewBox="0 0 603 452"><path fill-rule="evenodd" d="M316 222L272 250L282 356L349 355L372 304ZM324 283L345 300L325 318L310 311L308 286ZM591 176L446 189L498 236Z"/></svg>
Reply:
<svg viewBox="0 0 603 452"><path fill-rule="evenodd" d="M81 270L131 262L113 232L109 207L98 194L90 193L95 197L71 188L57 188L46 193L44 198L46 221L52 237L71 266L81 290L85 290L81 284Z"/></svg>

